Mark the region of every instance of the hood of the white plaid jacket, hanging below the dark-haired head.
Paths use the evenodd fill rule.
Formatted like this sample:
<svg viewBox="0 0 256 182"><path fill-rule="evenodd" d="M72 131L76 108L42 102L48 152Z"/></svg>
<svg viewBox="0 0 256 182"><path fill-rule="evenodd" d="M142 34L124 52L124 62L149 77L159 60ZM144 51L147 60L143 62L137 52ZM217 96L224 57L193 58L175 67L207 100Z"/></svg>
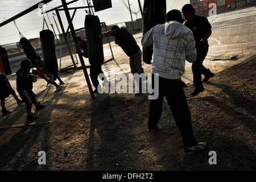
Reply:
<svg viewBox="0 0 256 182"><path fill-rule="evenodd" d="M164 26L164 34L169 39L180 38L183 36L187 36L189 34L193 34L188 27L184 26L184 24L181 24L175 20L166 22L165 24L163 24L163 26Z"/></svg>

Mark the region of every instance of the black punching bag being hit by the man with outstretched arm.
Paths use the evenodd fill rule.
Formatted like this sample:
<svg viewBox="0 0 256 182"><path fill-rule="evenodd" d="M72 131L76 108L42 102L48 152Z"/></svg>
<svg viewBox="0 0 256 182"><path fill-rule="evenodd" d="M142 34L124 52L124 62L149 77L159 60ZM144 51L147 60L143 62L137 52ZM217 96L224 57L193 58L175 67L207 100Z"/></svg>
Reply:
<svg viewBox="0 0 256 182"><path fill-rule="evenodd" d="M85 16L85 34L88 46L88 59L90 65L101 65L104 63L104 52L102 39L98 38L101 34L101 23L98 16Z"/></svg>

